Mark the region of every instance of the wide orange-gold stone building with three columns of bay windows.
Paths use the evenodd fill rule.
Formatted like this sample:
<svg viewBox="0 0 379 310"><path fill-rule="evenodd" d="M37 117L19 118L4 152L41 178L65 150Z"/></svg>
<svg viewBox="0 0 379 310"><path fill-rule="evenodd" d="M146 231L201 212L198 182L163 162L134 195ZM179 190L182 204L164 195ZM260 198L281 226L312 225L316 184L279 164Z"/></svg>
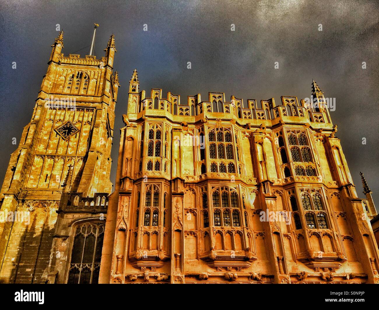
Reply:
<svg viewBox="0 0 379 310"><path fill-rule="evenodd" d="M129 82L100 283L377 283L327 99L180 96Z"/></svg>

